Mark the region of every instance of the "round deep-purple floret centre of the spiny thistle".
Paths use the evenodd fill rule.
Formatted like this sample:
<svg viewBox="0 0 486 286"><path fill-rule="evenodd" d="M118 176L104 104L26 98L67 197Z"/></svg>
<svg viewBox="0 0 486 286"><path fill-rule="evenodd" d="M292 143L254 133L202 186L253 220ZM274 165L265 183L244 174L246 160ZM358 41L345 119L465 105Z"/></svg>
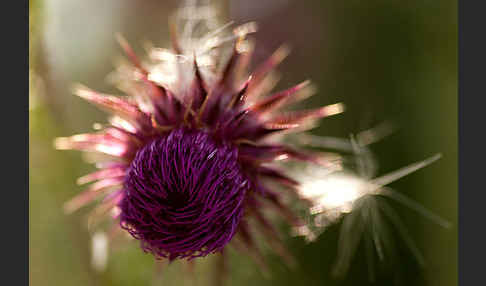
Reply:
<svg viewBox="0 0 486 286"><path fill-rule="evenodd" d="M201 130L175 129L137 152L120 222L146 252L171 260L205 256L235 234L248 186L236 147Z"/></svg>

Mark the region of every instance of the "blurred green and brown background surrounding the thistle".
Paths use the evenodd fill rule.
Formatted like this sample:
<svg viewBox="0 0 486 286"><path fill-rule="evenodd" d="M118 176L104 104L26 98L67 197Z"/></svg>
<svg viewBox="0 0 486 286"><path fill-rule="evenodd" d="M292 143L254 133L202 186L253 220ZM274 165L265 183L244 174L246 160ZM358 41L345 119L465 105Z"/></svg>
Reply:
<svg viewBox="0 0 486 286"><path fill-rule="evenodd" d="M167 17L178 1L30 0L30 284L213 285L214 257L192 274L181 263L162 275L136 242L110 249L108 266L91 267L90 231L83 209L66 216L62 204L81 188L77 177L93 167L80 153L56 151L53 138L86 132L105 115L71 95L72 82L105 92L113 60L121 55L114 33L135 49L142 41L166 45ZM221 3L220 3L221 4ZM280 67L277 88L311 79L319 88L308 104L344 102L344 114L325 119L315 134L346 137L389 120L399 129L372 149L380 174L440 152L443 158L392 187L452 223L444 229L393 204L423 253L420 268L404 246L394 264L378 268L376 285L457 285L457 3L449 0L229 1L226 17L258 21L257 58L281 43L292 53ZM137 44L139 43L139 44ZM89 209L89 208L88 208ZM364 251L343 279L330 275L337 230L317 242L288 237L300 267L290 270L268 253L265 278L244 255L230 252L228 285L367 285Z"/></svg>

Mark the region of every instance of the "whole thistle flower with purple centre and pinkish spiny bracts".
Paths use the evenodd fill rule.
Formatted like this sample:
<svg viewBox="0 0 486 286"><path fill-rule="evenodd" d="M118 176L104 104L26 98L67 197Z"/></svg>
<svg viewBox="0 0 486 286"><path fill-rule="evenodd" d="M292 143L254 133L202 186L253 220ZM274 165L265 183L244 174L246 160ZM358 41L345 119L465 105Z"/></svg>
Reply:
<svg viewBox="0 0 486 286"><path fill-rule="evenodd" d="M65 209L72 212L103 197L95 216L111 210L144 251L169 260L222 251L234 236L258 258L251 219L288 258L262 209L272 206L296 227L305 222L282 200L283 190L295 190L297 182L277 164L283 159L328 162L271 135L308 129L343 106L282 111L310 87L305 81L266 95L287 49L278 49L248 75L253 45L246 35L255 24L236 27L230 35L231 23L201 34L210 30L214 11L199 8L194 17L190 8L176 17L185 28L180 37L174 31L172 49L150 47L146 62L118 36L131 63L122 63L111 80L128 96L75 88L75 94L113 116L107 126L95 126L98 132L58 138L56 147L110 157L98 162L101 170L79 179L95 183Z"/></svg>

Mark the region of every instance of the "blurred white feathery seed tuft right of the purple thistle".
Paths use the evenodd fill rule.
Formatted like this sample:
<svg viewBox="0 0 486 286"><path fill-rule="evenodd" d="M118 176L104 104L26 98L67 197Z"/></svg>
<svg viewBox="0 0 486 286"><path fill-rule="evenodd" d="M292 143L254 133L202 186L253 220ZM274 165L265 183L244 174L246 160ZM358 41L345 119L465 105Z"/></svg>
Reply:
<svg viewBox="0 0 486 286"><path fill-rule="evenodd" d="M300 134L296 137L300 144L340 150L341 154L344 152L352 154L351 161L354 167L329 171L325 168L307 166L297 173L298 178L296 178L297 181L302 182L298 187L299 196L310 202L311 222L308 226L313 227L317 234L342 218L338 257L333 269L335 276L342 276L347 272L359 243L364 242L367 250L369 279L374 281L373 250L376 251L381 262L386 255L395 254L385 221L391 222L397 229L399 236L419 265L425 264L422 254L401 219L383 198L401 203L444 228L450 227L448 221L387 186L432 164L440 159L441 154L376 177L378 163L368 146L390 134L392 129L389 123L382 123L359 133L356 139L352 136L349 140L310 134ZM298 232L299 229L296 231ZM301 232L300 234L312 240L316 233Z"/></svg>

